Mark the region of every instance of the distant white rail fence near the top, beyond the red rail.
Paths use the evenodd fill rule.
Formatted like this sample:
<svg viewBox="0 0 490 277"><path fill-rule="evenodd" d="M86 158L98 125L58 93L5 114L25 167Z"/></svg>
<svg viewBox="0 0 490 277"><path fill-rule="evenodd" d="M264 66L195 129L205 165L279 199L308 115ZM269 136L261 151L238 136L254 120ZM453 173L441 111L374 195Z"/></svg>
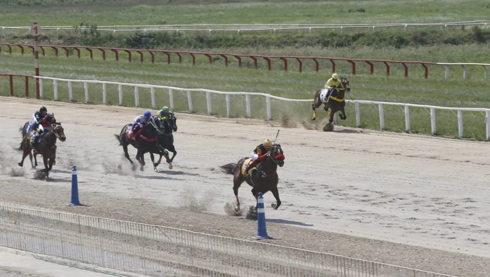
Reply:
<svg viewBox="0 0 490 277"><path fill-rule="evenodd" d="M363 24L182 24L182 25L105 25L97 26L97 30L105 32L135 32L135 31L207 31L209 34L213 31L229 31L237 32L238 34L243 31L272 31L273 34L276 31L281 30L308 30L311 34L312 30L322 29L338 29L340 33L344 29L350 28L368 28L375 30L376 28L386 27L403 27L404 30L410 27L429 27L440 26L443 28L449 26L480 26L487 28L490 26L490 21L476 20L476 21L461 21L461 22L437 22L437 23L363 23ZM29 26L2 26L2 34L5 35L7 30L26 30L29 32ZM41 26L43 30L74 30L74 26ZM77 27L78 29L84 29L87 27Z"/></svg>

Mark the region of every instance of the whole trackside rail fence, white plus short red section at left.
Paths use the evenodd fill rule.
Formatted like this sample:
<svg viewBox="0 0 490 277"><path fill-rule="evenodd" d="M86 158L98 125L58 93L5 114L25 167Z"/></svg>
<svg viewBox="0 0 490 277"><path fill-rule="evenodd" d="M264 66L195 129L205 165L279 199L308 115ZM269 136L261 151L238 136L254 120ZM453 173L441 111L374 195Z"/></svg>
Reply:
<svg viewBox="0 0 490 277"><path fill-rule="evenodd" d="M222 92L207 89L186 89L169 86L158 86L148 84L131 84L95 80L70 80L51 77L35 77L31 75L12 75L0 74L0 78L7 78L9 83L10 95L19 96L17 91L22 90L22 96L36 97L39 99L52 99L55 101L85 102L85 103L102 103L127 105L135 107L152 107L168 105L176 111L207 113L210 115L222 115L226 117L255 117L272 120L280 117L281 110L284 109L283 103L300 103L304 104L305 111L311 111L313 99L289 99L278 97L265 93L251 92ZM36 81L37 80L37 81ZM34 94L32 84L36 85L37 93ZM14 89L15 88L15 89ZM116 89L117 88L117 89ZM47 95L52 91L51 96ZM128 94L130 96L128 97ZM484 114L481 119L476 118L475 124L485 129L486 140L490 140L490 109L487 108L457 108L457 107L439 107L430 105L418 105L408 103L392 103L367 100L346 100L355 113L355 126L362 127L362 108L376 107L377 117L366 115L366 120L378 120L379 129L385 129L385 120L390 117L402 115L404 120L404 130L411 131L410 110L413 108L423 108L427 113L420 118L417 114L418 121L430 122L430 133L437 134L436 111L452 112L457 117L457 136L464 137L464 124L472 124L463 120L463 112L479 112ZM165 103L157 105L157 103ZM349 106L348 105L348 106ZM389 106L397 106L399 109L390 111L385 118L385 110ZM364 109L364 108L363 108ZM252 113L252 111L254 113ZM398 112L397 112L398 111ZM447 116L439 117L442 122ZM337 118L335 117L335 124ZM442 127L447 128L447 124ZM474 128L474 125L471 125ZM439 127L440 128L440 127Z"/></svg>

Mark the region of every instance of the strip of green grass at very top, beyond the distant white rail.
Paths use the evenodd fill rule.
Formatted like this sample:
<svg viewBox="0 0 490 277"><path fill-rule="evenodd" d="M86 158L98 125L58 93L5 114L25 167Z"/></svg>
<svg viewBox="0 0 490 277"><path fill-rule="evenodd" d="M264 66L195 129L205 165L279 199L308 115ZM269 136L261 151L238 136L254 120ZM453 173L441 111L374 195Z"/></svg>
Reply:
<svg viewBox="0 0 490 277"><path fill-rule="evenodd" d="M487 20L490 12L484 0L3 2L11 4L0 12L0 22L8 26L454 22ZM357 12L361 9L365 12Z"/></svg>

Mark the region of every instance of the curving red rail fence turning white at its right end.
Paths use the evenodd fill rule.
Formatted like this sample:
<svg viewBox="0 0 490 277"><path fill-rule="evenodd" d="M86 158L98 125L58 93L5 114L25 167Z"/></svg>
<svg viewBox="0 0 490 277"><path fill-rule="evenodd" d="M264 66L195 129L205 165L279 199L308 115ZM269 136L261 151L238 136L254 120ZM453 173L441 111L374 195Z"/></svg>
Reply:
<svg viewBox="0 0 490 277"><path fill-rule="evenodd" d="M34 53L34 45L31 44L11 44L11 43L0 43L0 52L2 52L2 47L7 48L10 54L13 53L13 48L17 47L20 49L22 54L27 53L25 51L27 48L32 50ZM315 62L315 71L320 70L320 61L329 61L331 63L332 72L335 72L335 62L348 62L352 66L352 74L356 74L356 69L358 62L366 63L369 66L369 73L374 74L374 64L384 65L386 76L390 76L391 68L394 64L401 64L404 68L404 76L408 77L409 69L408 64L419 64L424 69L424 78L429 76L429 68L427 65L443 66L445 68L445 78L449 79L450 76L450 66L461 66L463 68L463 79L468 78L467 66L481 66L483 68L483 79L488 79L488 68L490 63L445 63L445 62L429 62L429 61L399 61L399 60L383 60L383 59L353 59L353 58L335 58L335 57L308 57L308 56L264 56L264 55L253 55L253 54L231 54L231 53L211 53L211 52L191 52L191 51L170 51L170 50L157 50L157 49L124 49L124 48L109 48L109 47L88 47L88 46L61 46L61 45L39 45L40 53L44 56L46 54L46 49L53 49L56 56L60 55L63 50L65 56L70 56L71 52L76 52L77 57L81 57L81 50L85 49L88 51L90 58L93 59L93 52L100 51L102 53L103 60L106 60L108 52L113 52L116 60L119 60L119 55L121 53L126 53L128 55L128 61L133 60L133 54L139 55L139 61L144 61L144 54L150 54L150 59L152 63L155 63L155 54L161 53L167 56L167 63L171 63L171 56L178 56L179 63L182 63L182 55L190 55L192 58L192 64L195 65L196 56L205 56L208 58L209 63L213 63L214 57L221 57L224 59L225 66L228 66L228 61L230 58L235 58L238 61L238 66L242 66L242 59L248 58L252 59L254 62L254 67L259 68L259 60L265 60L267 63L267 69L272 70L272 61L280 60L282 62L282 68L284 71L288 69L288 63L290 60L296 60L298 62L298 68L300 72L303 72L303 62L305 60ZM171 55L172 54L172 55Z"/></svg>

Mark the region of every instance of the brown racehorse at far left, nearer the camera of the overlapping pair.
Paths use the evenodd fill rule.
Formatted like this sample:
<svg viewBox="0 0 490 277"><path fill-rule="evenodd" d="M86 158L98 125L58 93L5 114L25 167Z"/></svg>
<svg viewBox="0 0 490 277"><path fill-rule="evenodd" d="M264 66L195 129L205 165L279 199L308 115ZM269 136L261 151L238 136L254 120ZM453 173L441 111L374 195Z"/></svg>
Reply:
<svg viewBox="0 0 490 277"><path fill-rule="evenodd" d="M44 162L44 169L40 171L45 172L46 177L49 178L50 171L53 169L53 164L56 159L56 141L58 138L62 142L66 141L65 130L61 125L54 123L50 130L46 130L40 135L40 137L38 138L39 142L36 144L36 146L31 146L29 144L31 137L32 131L27 132L26 135L22 137L22 142L20 143L19 148L16 149L19 152L23 152L22 161L19 163L19 166L24 166L24 159L27 157L27 155L31 154L31 150L34 150L34 159L36 160L36 166L36 155L40 154ZM32 167L35 166L33 165Z"/></svg>

